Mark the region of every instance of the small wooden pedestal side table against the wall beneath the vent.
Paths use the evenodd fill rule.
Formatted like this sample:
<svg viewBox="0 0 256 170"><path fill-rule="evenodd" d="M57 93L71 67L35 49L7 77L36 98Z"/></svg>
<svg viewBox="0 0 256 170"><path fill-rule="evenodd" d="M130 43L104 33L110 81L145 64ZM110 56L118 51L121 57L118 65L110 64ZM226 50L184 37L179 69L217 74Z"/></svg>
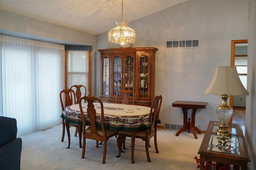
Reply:
<svg viewBox="0 0 256 170"><path fill-rule="evenodd" d="M201 134L201 131L195 126L196 110L206 109L206 106L207 106L207 102L190 102L190 101L178 100L172 103L172 107L181 107L184 114L183 127L176 133L176 136L180 135L180 133L188 129L188 133L192 131L195 139L197 139L196 132L198 134ZM188 109L192 109L191 121L190 121L190 118L188 118Z"/></svg>

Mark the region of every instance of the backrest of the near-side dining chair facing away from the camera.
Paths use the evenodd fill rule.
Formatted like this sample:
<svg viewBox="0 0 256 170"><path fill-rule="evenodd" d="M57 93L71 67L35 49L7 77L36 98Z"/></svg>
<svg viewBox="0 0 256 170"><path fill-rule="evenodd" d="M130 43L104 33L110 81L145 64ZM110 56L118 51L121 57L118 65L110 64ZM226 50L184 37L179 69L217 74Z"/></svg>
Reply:
<svg viewBox="0 0 256 170"><path fill-rule="evenodd" d="M84 110L82 108L82 100L85 100L87 103L87 114L90 119L90 130L91 134L93 135L98 135L96 130L97 130L97 123L96 123L96 110L94 104L98 103L100 104L100 114L101 114L101 129L103 131L104 136L106 136L106 130L105 130L105 125L104 125L104 107L103 103L99 98L94 97L88 97L84 96L80 98L79 100L79 107L80 107L80 112L82 116L82 121L83 121L83 132L85 131L85 126L86 126L86 121L84 118ZM105 145L105 144L104 144Z"/></svg>

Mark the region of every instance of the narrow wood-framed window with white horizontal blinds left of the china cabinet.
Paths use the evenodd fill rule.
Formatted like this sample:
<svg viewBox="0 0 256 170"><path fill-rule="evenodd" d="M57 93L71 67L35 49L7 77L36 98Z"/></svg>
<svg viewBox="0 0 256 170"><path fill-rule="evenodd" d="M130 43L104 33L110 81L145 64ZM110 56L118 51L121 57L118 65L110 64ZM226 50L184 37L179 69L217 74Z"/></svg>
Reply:
<svg viewBox="0 0 256 170"><path fill-rule="evenodd" d="M86 96L89 92L89 51L67 51L67 88L73 85L86 86ZM84 89L81 89L82 96L84 96Z"/></svg>

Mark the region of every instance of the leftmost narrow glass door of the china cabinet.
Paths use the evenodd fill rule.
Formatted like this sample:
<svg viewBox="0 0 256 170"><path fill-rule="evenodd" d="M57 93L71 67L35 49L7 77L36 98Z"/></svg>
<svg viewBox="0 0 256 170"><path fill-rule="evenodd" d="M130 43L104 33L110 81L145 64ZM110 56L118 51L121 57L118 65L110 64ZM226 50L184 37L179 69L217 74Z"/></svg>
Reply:
<svg viewBox="0 0 256 170"><path fill-rule="evenodd" d="M101 96L109 97L110 90L110 59L109 56L102 57L102 88Z"/></svg>

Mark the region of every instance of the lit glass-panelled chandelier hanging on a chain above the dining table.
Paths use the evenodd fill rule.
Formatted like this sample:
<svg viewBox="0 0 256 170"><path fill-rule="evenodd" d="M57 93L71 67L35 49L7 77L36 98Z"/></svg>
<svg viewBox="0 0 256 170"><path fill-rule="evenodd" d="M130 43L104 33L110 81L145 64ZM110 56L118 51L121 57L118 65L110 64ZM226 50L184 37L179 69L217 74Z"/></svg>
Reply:
<svg viewBox="0 0 256 170"><path fill-rule="evenodd" d="M136 41L136 31L128 27L128 21L123 21L123 0L122 0L122 20L116 21L116 27L108 31L108 41L116 44L131 44Z"/></svg>

